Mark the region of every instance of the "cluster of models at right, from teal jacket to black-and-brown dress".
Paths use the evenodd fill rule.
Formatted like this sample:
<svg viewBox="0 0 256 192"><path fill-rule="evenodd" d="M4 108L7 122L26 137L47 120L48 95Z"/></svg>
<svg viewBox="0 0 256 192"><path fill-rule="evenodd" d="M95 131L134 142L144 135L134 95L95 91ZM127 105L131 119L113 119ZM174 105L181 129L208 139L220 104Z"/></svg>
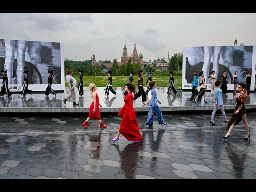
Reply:
<svg viewBox="0 0 256 192"><path fill-rule="evenodd" d="M244 83L244 82L239 82L238 76L237 76L238 72L235 71L235 74L233 76L233 81L232 81L232 83L234 84L233 95L236 95L236 87L238 88L239 93L236 98L236 106L235 106L234 112L229 121L226 118L226 114L223 106L223 98L222 98L222 94L228 93L226 71L223 72L221 76L221 81L216 80L216 76L214 75L214 73L215 72L212 71L212 75L210 76L211 93L214 94L214 109L212 111L210 125L213 125L213 126L216 125L214 124L214 116L217 111L217 108L220 107L222 116L224 118L224 122L228 123L228 125L226 126L226 131L228 132L226 136L224 136L223 138L229 139L232 128L239 122L243 121L246 128L246 136L244 140L248 140L248 138L250 139L250 132L249 132L248 122L246 119L246 109L245 109L244 103L247 99L247 95L250 94L248 90L250 90L251 72L250 71L247 72L246 79L245 79L246 83ZM194 70L194 81L192 82L192 86L193 86L192 96L190 98L190 101L196 103L196 101L198 100L199 102L201 102L202 96L204 96L204 102L207 103L205 100L205 93L207 88L204 81L203 71L201 71L198 76L196 74L196 70Z"/></svg>

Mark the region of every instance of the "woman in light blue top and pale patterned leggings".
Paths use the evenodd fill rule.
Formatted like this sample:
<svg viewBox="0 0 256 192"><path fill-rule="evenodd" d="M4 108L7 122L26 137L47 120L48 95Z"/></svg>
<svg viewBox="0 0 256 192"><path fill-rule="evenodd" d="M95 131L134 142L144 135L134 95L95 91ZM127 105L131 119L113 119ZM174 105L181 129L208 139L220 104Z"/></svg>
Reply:
<svg viewBox="0 0 256 192"><path fill-rule="evenodd" d="M216 88L214 89L214 108L212 111L212 119L211 119L210 125L211 124L216 125L216 124L214 124L213 119L214 119L214 116L215 116L218 106L220 107L222 116L224 118L224 122L228 123L228 120L227 120L226 114L225 114L225 110L224 110L224 106L223 106L222 90L220 89L221 81L217 80L215 82L215 86L216 86Z"/></svg>

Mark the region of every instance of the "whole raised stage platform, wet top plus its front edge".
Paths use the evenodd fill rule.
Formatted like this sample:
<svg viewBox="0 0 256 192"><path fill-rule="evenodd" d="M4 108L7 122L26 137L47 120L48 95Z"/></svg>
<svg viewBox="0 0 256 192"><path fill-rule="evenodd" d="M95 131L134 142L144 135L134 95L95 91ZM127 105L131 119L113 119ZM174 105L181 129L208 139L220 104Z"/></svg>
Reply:
<svg viewBox="0 0 256 192"><path fill-rule="evenodd" d="M104 87L99 87L96 93L99 96L99 102L102 105L100 112L119 112L124 105L124 88L113 87L117 92L116 96L111 92L108 97L104 95ZM158 100L162 103L158 104L162 112L184 112L195 110L213 110L214 96L210 92L206 92L206 101L194 104L189 101L191 97L190 90L177 90L177 94L174 95L171 92L170 96L167 96L167 87L156 87L156 93ZM91 91L89 88L84 88L84 96L80 97L76 88L76 102L78 106L73 106L72 99L66 102L66 105L62 101L68 93L68 88L64 90L64 93L57 93L56 96L50 93L50 97L45 97L44 93L34 93L32 95L27 94L26 97L22 97L20 93L14 93L8 97L6 95L0 96L0 113L86 113L89 112L90 104L92 103ZM236 96L232 91L229 91L227 95L223 95L223 102L225 110L233 110L236 105ZM256 94L250 92L246 100L246 109L256 108ZM148 93L147 105L143 105L141 97L134 102L134 110L136 112L148 112L148 107L151 100L151 94Z"/></svg>

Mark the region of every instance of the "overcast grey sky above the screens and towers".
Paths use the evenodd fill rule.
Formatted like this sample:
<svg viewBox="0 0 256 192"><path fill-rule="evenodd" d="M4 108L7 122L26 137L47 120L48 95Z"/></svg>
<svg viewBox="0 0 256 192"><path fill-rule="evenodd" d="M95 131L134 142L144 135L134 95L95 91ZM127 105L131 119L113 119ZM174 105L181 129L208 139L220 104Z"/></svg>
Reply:
<svg viewBox="0 0 256 192"><path fill-rule="evenodd" d="M64 43L64 58L96 61L142 52L167 59L185 46L256 45L256 13L0 13L0 38Z"/></svg>

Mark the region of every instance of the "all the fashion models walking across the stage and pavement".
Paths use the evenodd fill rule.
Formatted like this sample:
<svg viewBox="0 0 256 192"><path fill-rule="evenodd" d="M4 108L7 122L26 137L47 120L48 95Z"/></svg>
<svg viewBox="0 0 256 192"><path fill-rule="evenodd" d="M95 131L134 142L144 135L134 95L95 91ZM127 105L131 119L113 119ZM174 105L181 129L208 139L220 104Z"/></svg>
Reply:
<svg viewBox="0 0 256 192"><path fill-rule="evenodd" d="M7 96L11 96L11 92L8 88L8 76L7 76L7 70L4 70L4 68L1 70L2 74L3 74L3 86L2 89L0 91L0 96L3 96L5 93L7 94ZM28 92L29 94L32 94L33 92L31 90L28 89L28 74L29 71L25 70L23 71L24 73L24 82L22 84L23 89L22 89L22 95L26 96L26 92ZM48 70L49 73L49 77L48 77L48 86L46 88L46 92L45 92L45 96L48 97L49 96L49 92L51 91L52 94L56 95L56 92L52 89L52 81L54 80L53 78L53 72L52 70ZM84 95L84 91L83 91L83 71L79 70L80 76L79 76L79 81L78 81L78 90L79 90L79 95L83 96ZM200 102L202 99L202 96L204 96L204 102L206 102L205 100L205 90L206 90L206 84L204 81L204 72L201 71L199 73L199 76L196 74L196 70L194 70L194 81L193 83L193 88L192 88L192 96L190 98L190 101L196 102L197 100ZM73 105L78 105L76 104L76 91L75 91L75 87L76 87L76 80L72 77L72 70L67 70L66 72L66 81L68 82L68 87L70 89L70 93L68 94L68 96L66 96L66 98L63 100L63 102L66 104L66 101L68 100L68 98L73 99ZM109 95L109 91L111 91L114 95L116 95L116 92L113 90L112 88L112 71L108 70L108 83L104 89L105 91L105 95L108 96ZM147 80L147 89L146 89L146 93L145 93L145 88L144 88L144 84L143 84L143 70L138 70L138 93L136 93L135 91L135 86L134 84L132 84L132 82L134 81L133 79L133 70L130 71L130 78L129 78L129 82L126 83L125 85L125 98L124 98L124 106L122 107L122 109L120 110L120 112L118 113L119 116L122 117L122 122L120 124L120 129L118 134L111 139L112 141L118 141L119 140L119 136L120 134L122 134L122 136L124 136L127 140L133 140L134 142L139 142L142 140L142 136L140 134L139 128L138 128L138 123L137 123L137 119L136 119L136 114L133 108L133 102L134 100L136 100L137 98L139 98L140 96L142 96L142 103L146 104L146 95L148 94L149 90L151 90L151 95L152 95L152 99L150 102L150 106L149 106L149 112L148 112L148 117L147 117L147 121L146 121L146 125L152 126L153 124L153 115L154 113L156 114L156 117L158 119L158 123L162 124L162 125L166 125L167 123L164 121L163 117L162 117L162 112L160 111L160 108L158 107L158 103L161 104L161 102L157 99L157 94L155 91L155 87L156 87L156 83L154 81L152 81L152 73L151 71L148 72L148 80ZM235 74L233 76L233 84L234 84L234 93L236 94L236 87L238 88L238 96L236 98L236 107L234 109L234 112L232 114L231 119L228 121L226 118L226 114L224 111L224 106L223 106L223 98L222 98L222 94L226 94L227 93L227 75L226 75L226 71L223 72L222 75L222 80L216 80L216 76L214 76L214 71L212 71L212 76L210 77L210 82L211 82L211 91L212 94L214 94L214 110L212 112L212 118L210 121L210 125L216 125L214 124L214 115L216 113L216 110L218 107L220 107L220 110L222 112L222 116L224 118L224 122L228 123L227 127L226 127L226 131L227 134L226 136L224 136L223 138L230 138L230 132L232 130L232 128L238 124L240 121L244 122L245 128L246 128L246 136L244 138L244 140L248 140L248 138L250 139L250 132L249 132L249 126L248 126L248 122L246 119L246 109L244 106L244 103L247 99L247 95L249 94L247 92L247 90L250 90L250 84L251 84L251 76L250 76L250 71L247 72L247 76L246 76L246 83L243 82L239 82L238 81L238 77L237 77L237 71L235 71ZM197 86L196 86L197 85ZM104 128L106 127L106 125L103 124L101 118L100 118L100 108L102 107L102 105L99 103L99 96L97 93L95 93L95 91L97 90L97 87L95 84L90 84L89 85L90 90L92 91L92 98L93 98L93 102L90 105L90 109L89 109L89 116L86 119L86 121L82 124L85 128L88 128L87 123L90 119L96 119L98 120L98 122L100 123L100 128ZM173 90L174 94L177 94L177 91L174 88L174 77L173 77L173 72L170 71L170 79L169 79L169 86L168 86L168 96L170 95L170 91ZM134 93L135 96L132 95L132 93Z"/></svg>

